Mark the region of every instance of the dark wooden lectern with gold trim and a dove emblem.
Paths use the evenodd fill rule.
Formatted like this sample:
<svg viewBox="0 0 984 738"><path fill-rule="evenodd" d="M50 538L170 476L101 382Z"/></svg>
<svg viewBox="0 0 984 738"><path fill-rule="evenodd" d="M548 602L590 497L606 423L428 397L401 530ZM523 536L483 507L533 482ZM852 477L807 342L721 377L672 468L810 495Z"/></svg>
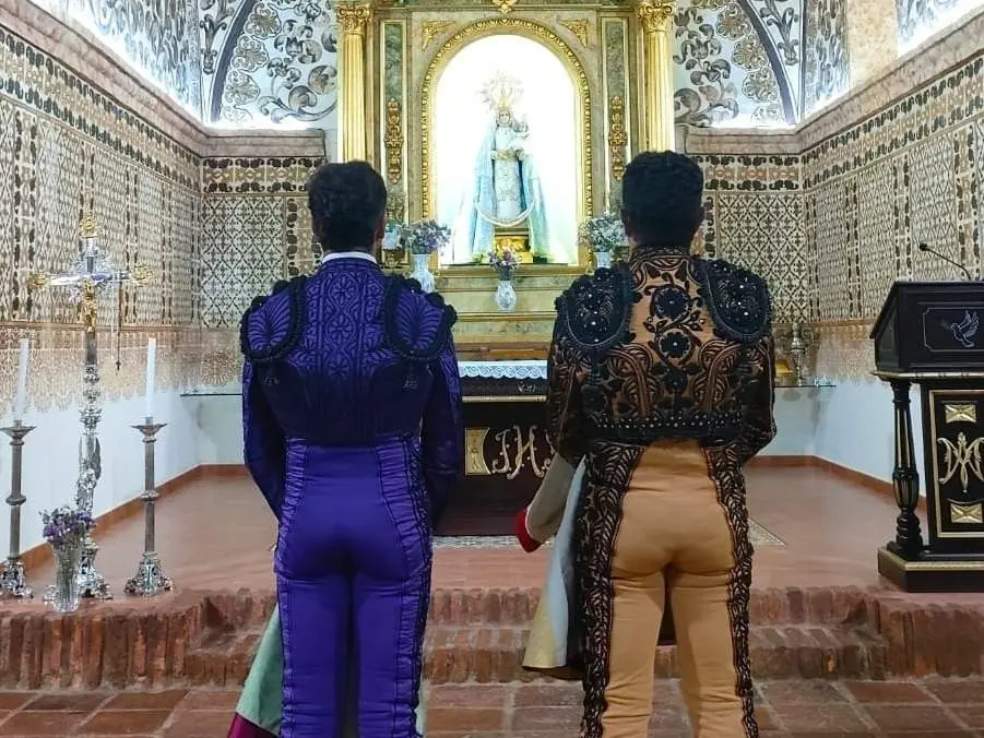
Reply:
<svg viewBox="0 0 984 738"><path fill-rule="evenodd" d="M891 384L896 539L878 571L910 592L984 592L984 282L897 282L875 323L875 372ZM922 390L928 536L916 507L909 391Z"/></svg>

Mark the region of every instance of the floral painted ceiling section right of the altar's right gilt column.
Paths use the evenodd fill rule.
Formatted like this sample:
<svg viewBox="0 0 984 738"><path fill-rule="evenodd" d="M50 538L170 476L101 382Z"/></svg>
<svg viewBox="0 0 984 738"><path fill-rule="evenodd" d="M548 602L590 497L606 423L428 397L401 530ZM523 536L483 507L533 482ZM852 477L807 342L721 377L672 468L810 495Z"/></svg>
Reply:
<svg viewBox="0 0 984 738"><path fill-rule="evenodd" d="M842 92L847 79L843 0L810 0L808 11L806 5L806 0L681 0L674 55L677 122L792 126ZM817 22L825 14L840 20Z"/></svg>

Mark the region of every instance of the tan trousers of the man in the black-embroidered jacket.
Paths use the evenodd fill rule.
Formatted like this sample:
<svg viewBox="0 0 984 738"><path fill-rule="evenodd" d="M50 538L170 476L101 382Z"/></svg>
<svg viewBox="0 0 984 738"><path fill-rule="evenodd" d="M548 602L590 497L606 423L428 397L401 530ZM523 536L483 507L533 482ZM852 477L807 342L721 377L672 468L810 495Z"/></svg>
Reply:
<svg viewBox="0 0 984 738"><path fill-rule="evenodd" d="M736 666L737 656L740 670L748 675L747 632L740 635L740 626L734 622L740 619L735 615L735 597L740 595L733 585L734 527L719 502L706 453L696 443L643 452L624 499L615 540L604 738L648 735L656 634L667 590L693 735L758 735L750 681L746 678L743 688ZM739 535L747 536L747 527ZM750 560L746 564L750 567ZM747 597L747 588L745 593ZM747 600L739 604L742 609L747 618Z"/></svg>

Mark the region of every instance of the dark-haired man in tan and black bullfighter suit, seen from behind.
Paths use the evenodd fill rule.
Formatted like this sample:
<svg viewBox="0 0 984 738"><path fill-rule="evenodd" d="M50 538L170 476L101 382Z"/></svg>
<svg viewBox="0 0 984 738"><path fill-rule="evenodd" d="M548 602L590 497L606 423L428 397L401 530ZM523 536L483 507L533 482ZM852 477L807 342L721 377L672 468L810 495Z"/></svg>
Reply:
<svg viewBox="0 0 984 738"><path fill-rule="evenodd" d="M569 474L578 497L565 635L581 660L568 666L583 671L582 738L648 734L667 592L695 735L758 736L743 467L775 433L771 309L758 276L689 254L702 191L687 157L639 156L623 184L628 263L558 300L547 404L566 464L552 468L555 484L518 533L532 547L556 529ZM570 471L581 464L577 489ZM560 523L558 546L562 513ZM548 650L540 639L549 630L534 624L527 663Z"/></svg>

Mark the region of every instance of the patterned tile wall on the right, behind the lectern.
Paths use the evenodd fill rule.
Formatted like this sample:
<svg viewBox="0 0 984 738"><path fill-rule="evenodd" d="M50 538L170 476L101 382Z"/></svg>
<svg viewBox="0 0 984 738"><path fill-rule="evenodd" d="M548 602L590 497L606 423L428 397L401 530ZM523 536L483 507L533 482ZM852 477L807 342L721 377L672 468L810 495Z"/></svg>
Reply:
<svg viewBox="0 0 984 738"><path fill-rule="evenodd" d="M761 134L746 140L746 151L775 147ZM984 56L802 155L698 159L706 248L769 279L780 322L814 328L819 374L870 372L868 332L897 278L959 277L921 242L975 276L984 270Z"/></svg>

